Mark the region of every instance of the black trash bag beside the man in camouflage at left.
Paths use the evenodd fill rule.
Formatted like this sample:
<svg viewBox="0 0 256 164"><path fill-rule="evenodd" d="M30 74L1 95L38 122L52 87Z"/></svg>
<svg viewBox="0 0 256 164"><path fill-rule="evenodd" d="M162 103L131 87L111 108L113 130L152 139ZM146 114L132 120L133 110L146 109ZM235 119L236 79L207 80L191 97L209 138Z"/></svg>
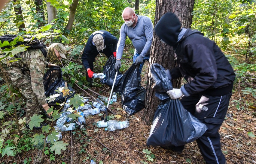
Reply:
<svg viewBox="0 0 256 164"><path fill-rule="evenodd" d="M55 90L59 87L65 87L65 81L62 78L62 71L61 68L58 66L52 66L44 75L44 94L46 97L54 94L60 94L56 97L56 100L51 101L51 103L62 103L65 99L69 99L74 97L75 90L68 85L70 95L66 95L62 97L63 93L58 93Z"/></svg>

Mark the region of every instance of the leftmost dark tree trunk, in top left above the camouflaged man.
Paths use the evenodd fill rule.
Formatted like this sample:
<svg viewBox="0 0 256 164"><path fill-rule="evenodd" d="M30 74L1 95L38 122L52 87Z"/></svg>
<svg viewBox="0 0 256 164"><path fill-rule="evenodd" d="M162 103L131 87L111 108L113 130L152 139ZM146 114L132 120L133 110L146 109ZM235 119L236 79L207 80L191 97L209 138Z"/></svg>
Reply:
<svg viewBox="0 0 256 164"><path fill-rule="evenodd" d="M15 1L13 1L13 4L17 5L14 7L14 11L15 11L15 15L16 15L14 23L16 23L19 31L26 31L25 23L24 23L24 19L23 19L23 15L22 15L22 10L21 10L21 6L20 6L20 1L15 0Z"/></svg>

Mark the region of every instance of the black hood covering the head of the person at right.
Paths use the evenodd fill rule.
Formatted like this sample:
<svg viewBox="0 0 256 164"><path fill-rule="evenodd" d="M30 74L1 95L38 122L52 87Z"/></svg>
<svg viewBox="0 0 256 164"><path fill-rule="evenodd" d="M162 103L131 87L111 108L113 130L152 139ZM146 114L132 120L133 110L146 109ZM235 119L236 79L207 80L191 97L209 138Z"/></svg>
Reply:
<svg viewBox="0 0 256 164"><path fill-rule="evenodd" d="M174 13L166 13L158 21L154 30L161 40L175 47L181 32L181 23Z"/></svg>

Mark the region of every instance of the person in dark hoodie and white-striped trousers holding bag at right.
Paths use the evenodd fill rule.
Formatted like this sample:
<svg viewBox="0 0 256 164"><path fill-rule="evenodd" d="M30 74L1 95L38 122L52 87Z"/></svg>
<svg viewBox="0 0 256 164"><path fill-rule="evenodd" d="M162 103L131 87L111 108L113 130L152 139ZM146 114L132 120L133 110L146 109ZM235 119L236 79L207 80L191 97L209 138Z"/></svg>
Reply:
<svg viewBox="0 0 256 164"><path fill-rule="evenodd" d="M186 84L167 91L171 99L181 98L184 108L205 123L208 130L197 139L206 163L226 163L218 129L224 121L232 95L235 73L212 40L197 30L181 28L174 13L166 13L154 28L160 40L175 50L177 66L166 70L169 79L184 77ZM172 147L181 152L183 146Z"/></svg>

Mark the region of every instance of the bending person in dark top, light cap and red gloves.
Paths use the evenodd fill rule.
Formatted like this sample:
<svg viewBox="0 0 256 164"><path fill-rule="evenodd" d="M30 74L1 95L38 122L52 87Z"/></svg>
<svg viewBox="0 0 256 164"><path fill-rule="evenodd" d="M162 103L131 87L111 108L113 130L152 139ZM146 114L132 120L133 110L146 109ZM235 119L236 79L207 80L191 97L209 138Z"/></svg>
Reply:
<svg viewBox="0 0 256 164"><path fill-rule="evenodd" d="M93 62L96 56L100 53L106 57L114 55L116 57L118 39L110 32L99 30L95 31L87 40L83 54L82 62L86 69L86 80L93 82Z"/></svg>

